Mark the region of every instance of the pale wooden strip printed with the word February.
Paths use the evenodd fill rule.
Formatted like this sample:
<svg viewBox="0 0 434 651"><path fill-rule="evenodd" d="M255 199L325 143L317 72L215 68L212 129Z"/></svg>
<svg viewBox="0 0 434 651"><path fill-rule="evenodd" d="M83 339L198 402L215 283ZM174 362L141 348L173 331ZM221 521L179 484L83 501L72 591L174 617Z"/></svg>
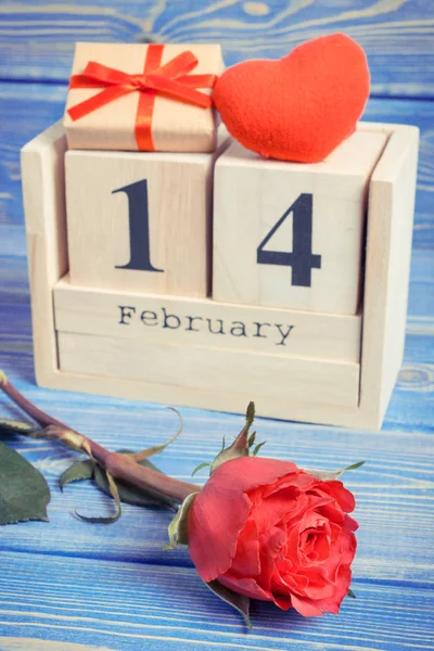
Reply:
<svg viewBox="0 0 434 651"><path fill-rule="evenodd" d="M74 286L71 276L58 282L53 298L55 327L62 332L360 361L361 314L312 314L213 298L101 291ZM238 336L241 324L245 336ZM239 330L231 332L234 326Z"/></svg>

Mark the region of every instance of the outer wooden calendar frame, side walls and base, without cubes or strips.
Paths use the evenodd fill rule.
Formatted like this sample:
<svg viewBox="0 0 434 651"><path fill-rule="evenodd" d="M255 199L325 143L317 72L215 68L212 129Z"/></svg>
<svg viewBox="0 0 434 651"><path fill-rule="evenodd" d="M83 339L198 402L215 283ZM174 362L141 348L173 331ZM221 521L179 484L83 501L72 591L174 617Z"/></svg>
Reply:
<svg viewBox="0 0 434 651"><path fill-rule="evenodd" d="M328 398L327 393L318 397L316 391L310 394L297 392L296 376L292 379L293 384L289 384L288 395L277 391L275 396L269 386L265 395L254 395L258 386L258 359L259 362L264 361L264 368L268 365L272 369L272 365L278 363L282 371L297 369L301 363L301 358L291 360L288 355L279 356L276 352L272 359L267 353L260 353L260 358L256 353L243 353L242 358L237 354L227 355L227 366L221 368L220 365L215 371L219 373L215 378L215 391L210 387L214 385L216 348L212 350L206 346L199 352L195 349L195 353L192 350L196 357L196 370L203 376L204 373L209 374L204 382L205 388L183 385L179 379L176 382L170 382L169 378L165 383L152 383L113 374L94 374L89 369L86 372L60 370L61 333L56 330L53 293L56 288L59 290L67 284L68 270L64 189L66 139L60 123L36 137L22 150L37 383L49 388L235 413L241 413L247 403L254 399L258 416L359 429L381 427L404 354L419 130L410 126L372 123L360 123L359 128L380 130L387 135L388 140L370 181L361 350L357 366L358 395L355 404L352 400L347 405L343 400L336 404L336 400ZM74 291L74 288L69 290ZM94 292L98 293L98 290ZM203 301L206 303L212 298ZM261 309L264 311L268 308ZM88 336L95 337L92 340L95 344L101 339L98 334ZM116 344L120 355L123 346L131 345L128 339L116 340ZM174 345L182 346L182 349L186 346ZM165 353L167 360L167 347L161 346L158 349L162 349L162 354ZM221 355L221 358L225 356ZM250 360L256 365L256 384L252 380L251 385ZM226 391L224 375L230 375L231 363L238 365L240 361L246 367L245 382L237 392ZM328 372L323 360L315 358L309 359L303 370L305 383L308 382L309 373L314 379ZM288 374L291 375L291 372ZM276 381L279 382L279 378ZM315 382L312 386L315 387Z"/></svg>

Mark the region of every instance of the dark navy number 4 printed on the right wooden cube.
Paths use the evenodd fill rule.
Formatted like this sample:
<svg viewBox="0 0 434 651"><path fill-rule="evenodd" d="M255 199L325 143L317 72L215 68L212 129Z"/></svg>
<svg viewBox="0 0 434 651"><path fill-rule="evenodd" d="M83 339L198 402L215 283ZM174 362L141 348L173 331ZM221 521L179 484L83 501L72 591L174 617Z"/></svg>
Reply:
<svg viewBox="0 0 434 651"><path fill-rule="evenodd" d="M293 215L292 252L264 251L264 246L266 246L291 213ZM311 286L311 270L321 269L321 256L312 254L312 194L301 194L288 208L257 247L256 261L258 265L291 267L292 285L301 288Z"/></svg>

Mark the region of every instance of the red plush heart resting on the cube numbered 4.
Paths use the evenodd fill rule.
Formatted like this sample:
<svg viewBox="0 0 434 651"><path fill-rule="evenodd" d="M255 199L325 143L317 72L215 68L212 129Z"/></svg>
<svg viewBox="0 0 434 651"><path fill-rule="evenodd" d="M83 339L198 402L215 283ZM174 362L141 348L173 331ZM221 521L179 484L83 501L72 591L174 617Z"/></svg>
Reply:
<svg viewBox="0 0 434 651"><path fill-rule="evenodd" d="M298 46L280 61L246 61L217 80L229 132L264 157L317 163L350 136L369 97L363 50L343 34Z"/></svg>

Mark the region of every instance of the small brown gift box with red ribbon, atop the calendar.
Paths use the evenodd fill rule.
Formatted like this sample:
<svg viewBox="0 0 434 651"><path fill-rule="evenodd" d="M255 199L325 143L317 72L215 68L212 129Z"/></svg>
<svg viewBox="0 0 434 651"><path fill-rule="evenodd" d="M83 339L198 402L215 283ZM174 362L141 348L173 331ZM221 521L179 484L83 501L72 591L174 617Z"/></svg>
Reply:
<svg viewBox="0 0 434 651"><path fill-rule="evenodd" d="M69 149L212 152L217 44L77 43L64 127Z"/></svg>

